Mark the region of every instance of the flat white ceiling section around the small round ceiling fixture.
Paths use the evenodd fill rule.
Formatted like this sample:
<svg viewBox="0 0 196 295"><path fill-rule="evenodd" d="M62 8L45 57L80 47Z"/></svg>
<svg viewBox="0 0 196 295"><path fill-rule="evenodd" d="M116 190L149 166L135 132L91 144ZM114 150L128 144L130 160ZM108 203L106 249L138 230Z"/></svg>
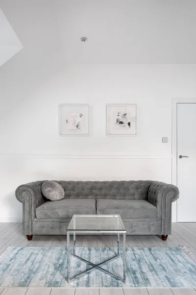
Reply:
<svg viewBox="0 0 196 295"><path fill-rule="evenodd" d="M55 6L66 62L196 62L196 0L58 0ZM88 43L79 41L83 35Z"/></svg>

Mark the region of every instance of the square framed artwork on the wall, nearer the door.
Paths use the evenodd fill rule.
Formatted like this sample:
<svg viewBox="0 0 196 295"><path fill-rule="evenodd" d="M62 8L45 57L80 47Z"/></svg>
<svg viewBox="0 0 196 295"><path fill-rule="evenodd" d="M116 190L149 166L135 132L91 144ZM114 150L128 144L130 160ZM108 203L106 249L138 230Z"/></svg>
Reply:
<svg viewBox="0 0 196 295"><path fill-rule="evenodd" d="M137 105L106 105L106 136L137 135Z"/></svg>

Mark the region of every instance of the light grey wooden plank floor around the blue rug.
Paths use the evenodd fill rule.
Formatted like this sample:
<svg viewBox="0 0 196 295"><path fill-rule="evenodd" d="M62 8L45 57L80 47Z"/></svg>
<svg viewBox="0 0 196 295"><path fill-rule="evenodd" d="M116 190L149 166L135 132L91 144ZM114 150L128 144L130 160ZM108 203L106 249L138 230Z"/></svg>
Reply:
<svg viewBox="0 0 196 295"><path fill-rule="evenodd" d="M196 223L172 223L172 235L167 242L159 236L127 236L127 247L186 246L196 256ZM121 241L122 243L122 241ZM33 236L28 241L22 233L21 223L0 223L0 253L8 246L62 247L66 236ZM76 246L114 247L116 236L76 236ZM196 295L196 289L178 288L0 288L1 295Z"/></svg>

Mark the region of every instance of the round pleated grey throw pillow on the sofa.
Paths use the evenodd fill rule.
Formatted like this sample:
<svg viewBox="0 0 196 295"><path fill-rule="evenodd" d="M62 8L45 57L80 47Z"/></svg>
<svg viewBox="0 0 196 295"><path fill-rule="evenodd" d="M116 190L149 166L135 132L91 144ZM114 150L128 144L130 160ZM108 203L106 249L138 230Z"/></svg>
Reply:
<svg viewBox="0 0 196 295"><path fill-rule="evenodd" d="M63 187L55 181L46 180L41 186L42 194L50 201L62 200L65 196Z"/></svg>

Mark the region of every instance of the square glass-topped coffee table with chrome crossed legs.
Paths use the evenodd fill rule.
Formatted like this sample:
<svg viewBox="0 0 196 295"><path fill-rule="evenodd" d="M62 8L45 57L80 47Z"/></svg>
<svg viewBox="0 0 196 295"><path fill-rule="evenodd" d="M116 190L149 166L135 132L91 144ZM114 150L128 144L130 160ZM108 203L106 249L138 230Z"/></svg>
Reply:
<svg viewBox="0 0 196 295"><path fill-rule="evenodd" d="M92 235L99 235L99 234L117 234L118 241L117 241L117 255L114 257L101 262L98 265L93 264L90 261L83 259L75 254L75 235L76 234L92 234ZM72 278L70 277L70 234L73 234L73 257L85 262L92 266L92 268L87 269ZM123 235L123 278L117 276L101 266L115 258L120 257L120 234ZM73 215L70 224L67 228L67 263L68 263L68 273L67 273L67 281L70 283L73 279L78 278L79 276L83 275L91 271L94 268L103 271L104 273L126 283L126 255L125 255L125 243L126 243L126 229L123 225L123 221L120 215Z"/></svg>

